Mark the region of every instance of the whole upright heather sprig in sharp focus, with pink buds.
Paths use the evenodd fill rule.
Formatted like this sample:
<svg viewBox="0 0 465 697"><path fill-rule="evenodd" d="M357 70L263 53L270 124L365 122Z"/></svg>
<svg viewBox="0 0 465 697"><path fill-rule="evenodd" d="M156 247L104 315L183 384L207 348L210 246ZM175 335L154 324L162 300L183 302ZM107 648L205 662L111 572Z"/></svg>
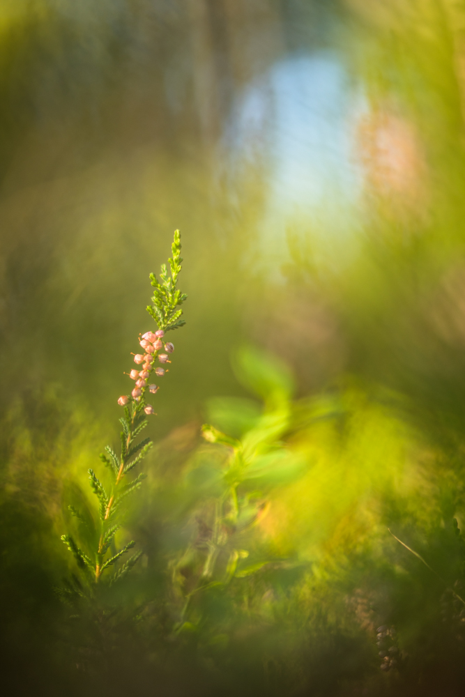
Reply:
<svg viewBox="0 0 465 697"><path fill-rule="evenodd" d="M68 549L75 558L77 566L83 572L87 581L99 583L104 572L108 572L119 565L109 579L110 583L119 581L135 565L142 552L137 551L121 564L123 556L135 546L135 541L131 540L121 549L116 549L114 544L116 533L123 527L123 505L125 500L132 493L135 493L145 479L144 473L139 473L132 479L128 475L141 464L142 460L152 447L151 438L144 438L137 442L148 421L147 415L154 414L155 411L151 404L147 404L147 393L155 395L158 386L150 383L153 374L162 377L165 374L165 363L170 363L169 355L174 351L171 342L162 340L166 332L177 329L185 324L183 319L179 319L183 313L178 309L183 304L187 296L176 288L178 274L181 271L181 236L178 230L174 233L174 241L171 245L172 258L168 260L171 270L171 277L167 272L167 265L162 264L160 279L161 283L153 273L150 280L155 289L151 298L153 305L148 305L147 311L158 325L155 332L146 332L142 337L139 335L139 344L144 349L144 353L136 353L134 361L137 365L142 365L141 370L132 369L129 373L130 378L135 381L135 387L130 395L121 395L118 404L124 407L124 416L120 419L123 430L121 431L121 454L118 456L109 445L105 448L106 453L100 454L103 464L109 469L112 477L112 484L109 491L98 479L93 469L89 469L89 481L91 489L98 498L98 534L95 537L93 549L86 553L78 546L72 535L62 535L61 539L68 546ZM166 353L161 353L163 349ZM162 365L155 365L162 364ZM71 514L79 521L79 525L89 526L86 516L74 506L69 506ZM73 590L76 592L75 583ZM63 592L66 594L66 592ZM63 595L63 593L61 595Z"/></svg>

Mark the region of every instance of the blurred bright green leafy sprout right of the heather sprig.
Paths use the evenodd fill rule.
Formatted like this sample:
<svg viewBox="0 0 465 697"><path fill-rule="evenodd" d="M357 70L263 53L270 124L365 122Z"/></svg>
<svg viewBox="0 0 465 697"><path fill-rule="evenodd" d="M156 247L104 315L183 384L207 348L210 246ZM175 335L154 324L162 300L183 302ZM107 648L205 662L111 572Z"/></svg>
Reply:
<svg viewBox="0 0 465 697"><path fill-rule="evenodd" d="M244 547L250 543L251 528L268 512L267 489L303 473L299 454L282 441L291 423L292 381L286 367L247 347L238 351L236 362L247 387L264 399L264 411L257 411L240 438L212 424L201 427L204 440L219 446L225 457L220 474L212 480L215 495L197 509L198 529L172 565L174 587L183 602L177 632L193 631L198 625L199 609L192 605L203 592L221 592L234 579L280 563L269 556L245 562L250 551Z"/></svg>

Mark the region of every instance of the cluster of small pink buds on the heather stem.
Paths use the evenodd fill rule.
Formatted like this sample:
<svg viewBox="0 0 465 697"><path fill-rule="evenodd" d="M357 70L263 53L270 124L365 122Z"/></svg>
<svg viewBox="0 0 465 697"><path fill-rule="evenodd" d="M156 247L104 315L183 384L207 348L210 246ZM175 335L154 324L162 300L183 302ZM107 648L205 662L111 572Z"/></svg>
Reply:
<svg viewBox="0 0 465 697"><path fill-rule="evenodd" d="M158 366L155 368L155 360L158 358L160 363L171 363L169 358L169 353L173 353L174 351L174 346L171 344L171 342L168 342L165 344L165 351L167 353L159 353L157 354L158 351L160 351L161 348L163 348L163 342L162 342L162 337L165 335L165 332L162 329L159 329L157 332L146 332L142 339L139 341L139 344L142 346L144 349L145 353L136 353L134 356L134 362L137 363L137 365L142 364L142 370L135 370L132 369L131 372L129 373L130 378L135 381L135 388L131 392L132 399L135 399L136 401L139 401L141 399L142 395L144 395L145 390L148 388L148 391L151 392L152 395L155 395L155 392L158 391L157 385L149 385L148 384L148 378L151 375L151 372L155 372L155 375L162 376L165 375L165 369ZM130 401L130 397L128 395L121 395L118 399L118 404L120 406L125 406L125 404L128 404ZM147 406L144 408L144 411L146 414L154 414L155 411L153 411L153 406L150 404L147 404Z"/></svg>

